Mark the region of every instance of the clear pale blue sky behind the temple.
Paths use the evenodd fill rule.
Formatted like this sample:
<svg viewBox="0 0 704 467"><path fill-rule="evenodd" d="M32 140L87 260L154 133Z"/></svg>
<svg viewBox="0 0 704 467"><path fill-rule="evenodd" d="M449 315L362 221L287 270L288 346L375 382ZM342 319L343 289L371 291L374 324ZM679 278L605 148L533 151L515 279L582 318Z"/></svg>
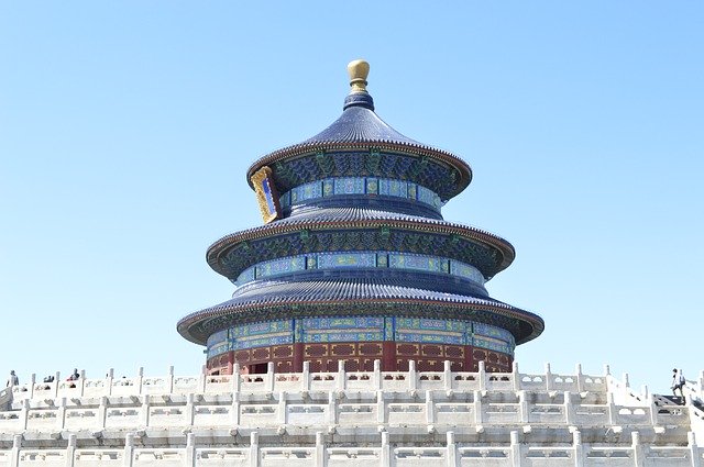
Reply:
<svg viewBox="0 0 704 467"><path fill-rule="evenodd" d="M444 218L516 247L487 287L546 321L521 371L704 369L701 1L0 1L0 371L196 374L176 322L233 289L206 248L355 58L471 164Z"/></svg>

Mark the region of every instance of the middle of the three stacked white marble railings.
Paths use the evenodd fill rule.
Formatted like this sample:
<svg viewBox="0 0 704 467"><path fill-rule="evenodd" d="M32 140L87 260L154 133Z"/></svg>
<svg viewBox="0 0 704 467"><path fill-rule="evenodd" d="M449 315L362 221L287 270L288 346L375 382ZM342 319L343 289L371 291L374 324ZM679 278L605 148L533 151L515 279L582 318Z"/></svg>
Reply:
<svg viewBox="0 0 704 467"><path fill-rule="evenodd" d="M485 391L441 390L385 392L311 391L246 393L208 398L187 396L67 398L22 401L20 409L0 412L0 431L62 431L172 427L358 426L358 425L575 425L651 426L689 423L683 407L617 405L582 399L570 391L546 393L515 391L501 398ZM425 429L424 429L425 430Z"/></svg>

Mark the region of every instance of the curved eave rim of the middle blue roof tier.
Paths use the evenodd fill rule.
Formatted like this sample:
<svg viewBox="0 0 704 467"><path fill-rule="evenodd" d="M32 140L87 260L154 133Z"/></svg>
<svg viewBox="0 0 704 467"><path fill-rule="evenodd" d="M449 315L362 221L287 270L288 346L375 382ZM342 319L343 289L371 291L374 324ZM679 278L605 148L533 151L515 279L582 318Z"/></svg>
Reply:
<svg viewBox="0 0 704 467"><path fill-rule="evenodd" d="M223 236L208 247L206 259L208 265L210 265L215 271L224 275L219 264L220 256L234 245L242 242L300 232L302 230L378 229L382 226L400 230L425 230L438 234L459 235L493 246L501 252L503 258L496 273L501 273L510 266L516 257L516 249L514 246L508 243L508 241L497 235L475 227L422 218L422 220L364 219L354 221L301 220L299 222L292 221L286 223L273 222L271 224Z"/></svg>

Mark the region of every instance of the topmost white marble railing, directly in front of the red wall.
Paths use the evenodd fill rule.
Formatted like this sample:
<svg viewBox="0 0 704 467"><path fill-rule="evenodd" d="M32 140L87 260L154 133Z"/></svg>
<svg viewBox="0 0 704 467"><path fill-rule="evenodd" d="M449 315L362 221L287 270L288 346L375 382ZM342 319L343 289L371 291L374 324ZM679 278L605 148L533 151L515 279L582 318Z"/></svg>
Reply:
<svg viewBox="0 0 704 467"><path fill-rule="evenodd" d="M606 375L608 376L608 375ZM280 392L280 391L340 391L340 390L383 390L383 391L572 391L605 392L606 376L583 375L578 365L574 375L559 375L550 371L531 375L518 373L514 365L512 373L486 373L484 362L475 373L451 371L446 362L443 371L416 371L415 362L409 363L408 371L381 371L381 364L375 362L373 371L345 371L344 363L340 363L338 371L310 373L308 363L304 363L302 373L275 374L270 364L266 374L243 375L235 365L234 375L191 376L174 375L174 367L166 376L145 377L142 369L138 376L114 378L112 370L106 378L79 378L75 381L62 381L56 374L53 382L36 382L35 375L29 383L12 388L13 401L24 399L81 398L110 396L145 396L145 394L189 394L222 392Z"/></svg>

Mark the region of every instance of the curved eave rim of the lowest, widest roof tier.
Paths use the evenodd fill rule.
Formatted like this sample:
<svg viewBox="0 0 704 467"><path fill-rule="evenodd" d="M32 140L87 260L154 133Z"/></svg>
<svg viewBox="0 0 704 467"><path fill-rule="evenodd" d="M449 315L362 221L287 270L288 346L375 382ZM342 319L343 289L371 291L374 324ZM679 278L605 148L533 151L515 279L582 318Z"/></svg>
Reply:
<svg viewBox="0 0 704 467"><path fill-rule="evenodd" d="M178 321L176 325L176 330L178 333L195 344L206 345L206 340L208 335L202 332L198 332L197 327L199 324L210 321L212 319L226 316L229 314L241 313L243 311L248 311L250 313L264 312L266 310L287 308L293 305L331 305L339 304L340 301L331 301L331 300L314 300L314 301L301 301L296 299L288 300L279 300L271 303L238 303L231 304L230 301L217 304L215 307L207 308L205 310L200 310L189 315L183 318ZM526 333L522 336L516 337L516 345L525 344L526 342L532 341L542 334L544 330L544 322L540 316L529 311L520 310L518 308L512 307L506 303L502 303L499 301L488 301L477 299L475 303L468 303L460 300L448 299L444 301L441 300L418 300L418 299L409 299L409 298L371 298L371 299L356 299L356 300L345 300L345 305L354 305L354 304L367 304L367 305L389 305L389 304L428 304L433 307L446 307L446 308L463 308L468 311L491 311L493 313L497 313L510 319L515 319L521 322L525 327L530 326L530 332Z"/></svg>

